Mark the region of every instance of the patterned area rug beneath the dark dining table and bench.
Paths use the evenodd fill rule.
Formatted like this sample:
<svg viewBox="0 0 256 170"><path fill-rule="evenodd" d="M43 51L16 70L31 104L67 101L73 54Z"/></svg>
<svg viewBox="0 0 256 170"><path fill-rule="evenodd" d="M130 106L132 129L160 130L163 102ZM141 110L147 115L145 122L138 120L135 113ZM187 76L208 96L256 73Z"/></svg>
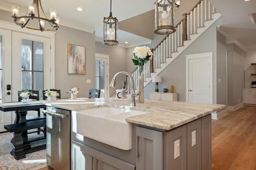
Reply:
<svg viewBox="0 0 256 170"><path fill-rule="evenodd" d="M32 133L28 138L34 138L44 135ZM12 143L10 142L13 134L10 132L0 134L0 170L39 170L46 167L46 149L26 154L26 158L16 160L10 154ZM46 140L31 142L31 146L46 144Z"/></svg>

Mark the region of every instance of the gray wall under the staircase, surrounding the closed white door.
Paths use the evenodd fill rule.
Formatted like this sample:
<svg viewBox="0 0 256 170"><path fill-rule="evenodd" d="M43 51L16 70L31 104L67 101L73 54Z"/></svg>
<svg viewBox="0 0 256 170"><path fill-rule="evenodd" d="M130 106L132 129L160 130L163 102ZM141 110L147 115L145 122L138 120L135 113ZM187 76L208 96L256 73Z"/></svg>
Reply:
<svg viewBox="0 0 256 170"><path fill-rule="evenodd" d="M186 101L186 56L187 54L204 53L213 51L213 103L216 103L216 26L224 22L220 17L210 28L208 28L198 39L186 48L166 69L159 75L162 76L162 83L159 83L159 91L164 88L170 90L174 85L174 91L178 93L178 101ZM145 98L149 98L149 92L154 92L154 83L149 83L145 89Z"/></svg>

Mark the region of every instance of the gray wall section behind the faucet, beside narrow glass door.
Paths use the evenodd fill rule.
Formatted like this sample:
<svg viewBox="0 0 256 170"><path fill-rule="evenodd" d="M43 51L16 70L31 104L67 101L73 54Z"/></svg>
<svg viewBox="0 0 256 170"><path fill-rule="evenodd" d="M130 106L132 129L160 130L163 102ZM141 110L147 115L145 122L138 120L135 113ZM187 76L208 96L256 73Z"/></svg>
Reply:
<svg viewBox="0 0 256 170"><path fill-rule="evenodd" d="M118 71L126 71L126 48L120 46L109 46L102 45L101 42L95 42L96 53L109 55L109 83L111 82L113 76ZM95 64L94 64L95 65ZM109 97L116 95L116 89L122 89L122 81L124 81L124 75L119 75L116 78L116 87L109 88Z"/></svg>

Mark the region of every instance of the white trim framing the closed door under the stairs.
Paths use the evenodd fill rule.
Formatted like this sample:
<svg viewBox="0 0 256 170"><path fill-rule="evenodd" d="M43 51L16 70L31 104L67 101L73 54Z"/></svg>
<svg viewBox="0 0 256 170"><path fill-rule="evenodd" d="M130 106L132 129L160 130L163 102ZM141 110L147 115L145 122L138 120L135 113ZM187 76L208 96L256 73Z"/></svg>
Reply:
<svg viewBox="0 0 256 170"><path fill-rule="evenodd" d="M188 75L189 75L189 69L188 69L188 61L190 59L202 59L202 58L209 58L210 60L210 104L213 102L213 72L212 72L212 54L213 51L206 52L206 53L197 53L197 54L188 54L186 55L186 102L189 101L189 80L188 80Z"/></svg>

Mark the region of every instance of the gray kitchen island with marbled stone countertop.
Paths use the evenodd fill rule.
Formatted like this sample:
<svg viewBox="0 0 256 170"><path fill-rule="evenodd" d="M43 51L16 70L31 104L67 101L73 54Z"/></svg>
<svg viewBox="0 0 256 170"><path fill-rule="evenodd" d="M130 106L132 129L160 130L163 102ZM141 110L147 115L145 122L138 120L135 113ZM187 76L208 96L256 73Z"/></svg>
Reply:
<svg viewBox="0 0 256 170"><path fill-rule="evenodd" d="M114 107L146 112L126 118L126 122L132 123L130 150L79 134L74 130L75 120L71 117L70 168L103 170L211 169L211 113L225 107L152 100L130 107L128 102L104 98L66 99L44 104L69 111Z"/></svg>

